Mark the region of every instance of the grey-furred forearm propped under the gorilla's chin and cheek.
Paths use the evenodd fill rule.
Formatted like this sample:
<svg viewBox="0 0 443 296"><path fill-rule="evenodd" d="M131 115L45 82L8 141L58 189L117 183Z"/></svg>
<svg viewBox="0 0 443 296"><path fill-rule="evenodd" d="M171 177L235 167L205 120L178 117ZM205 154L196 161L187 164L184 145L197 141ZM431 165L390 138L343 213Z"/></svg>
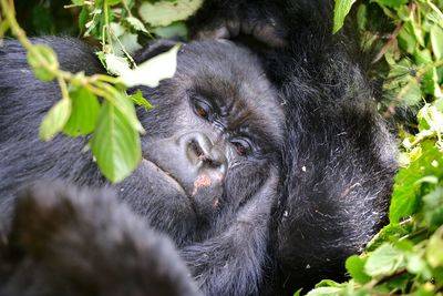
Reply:
<svg viewBox="0 0 443 296"><path fill-rule="evenodd" d="M262 284L277 173L243 205L228 229L181 251L204 295L257 295ZM217 276L213 276L217 275Z"/></svg>

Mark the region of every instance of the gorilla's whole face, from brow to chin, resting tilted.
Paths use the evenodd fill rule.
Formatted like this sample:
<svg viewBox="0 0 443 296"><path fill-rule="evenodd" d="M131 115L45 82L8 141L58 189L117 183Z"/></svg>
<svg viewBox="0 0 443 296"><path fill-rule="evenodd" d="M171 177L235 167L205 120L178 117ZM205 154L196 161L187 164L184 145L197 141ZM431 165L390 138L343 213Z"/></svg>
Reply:
<svg viewBox="0 0 443 296"><path fill-rule="evenodd" d="M143 91L155 109L138 114L143 161L122 198L179 245L206 238L278 167L281 106L258 60L227 42L184 45L174 78Z"/></svg>

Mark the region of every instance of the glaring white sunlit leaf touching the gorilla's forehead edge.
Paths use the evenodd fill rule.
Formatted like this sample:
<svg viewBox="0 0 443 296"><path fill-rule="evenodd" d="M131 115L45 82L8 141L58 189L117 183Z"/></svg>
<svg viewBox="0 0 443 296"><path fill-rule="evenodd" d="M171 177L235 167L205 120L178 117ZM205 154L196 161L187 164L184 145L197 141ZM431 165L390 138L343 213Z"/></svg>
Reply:
<svg viewBox="0 0 443 296"><path fill-rule="evenodd" d="M177 68L177 52L179 47L177 44L169 51L140 64L137 69L123 73L120 78L122 83L127 88L135 85L158 86L161 80L174 75Z"/></svg>

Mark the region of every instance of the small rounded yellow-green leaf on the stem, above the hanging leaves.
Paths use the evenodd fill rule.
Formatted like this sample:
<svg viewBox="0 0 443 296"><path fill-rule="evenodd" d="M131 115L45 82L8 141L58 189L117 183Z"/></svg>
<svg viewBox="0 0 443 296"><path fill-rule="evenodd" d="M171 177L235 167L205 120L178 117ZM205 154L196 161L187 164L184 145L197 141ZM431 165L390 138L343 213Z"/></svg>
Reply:
<svg viewBox="0 0 443 296"><path fill-rule="evenodd" d="M37 44L28 51L28 63L38 79L51 81L59 70L55 52L48 45Z"/></svg>

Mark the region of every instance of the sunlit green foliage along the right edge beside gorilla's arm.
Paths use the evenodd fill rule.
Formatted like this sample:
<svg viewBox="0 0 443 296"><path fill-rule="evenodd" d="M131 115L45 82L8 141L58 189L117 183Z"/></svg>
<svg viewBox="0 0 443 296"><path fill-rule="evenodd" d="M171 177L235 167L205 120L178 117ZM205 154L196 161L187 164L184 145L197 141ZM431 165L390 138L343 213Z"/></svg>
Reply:
<svg viewBox="0 0 443 296"><path fill-rule="evenodd" d="M343 2L343 3L339 3ZM336 16L347 3L337 0ZM348 258L347 283L322 280L313 295L443 295L443 1L373 0L393 23L380 49L389 65L383 89L398 104L424 101L414 134L402 132L402 167L395 178L390 224L359 256ZM359 23L370 23L368 1L358 7ZM342 17L336 18L337 28ZM361 29L365 29L362 25ZM365 31L364 33L375 33Z"/></svg>

